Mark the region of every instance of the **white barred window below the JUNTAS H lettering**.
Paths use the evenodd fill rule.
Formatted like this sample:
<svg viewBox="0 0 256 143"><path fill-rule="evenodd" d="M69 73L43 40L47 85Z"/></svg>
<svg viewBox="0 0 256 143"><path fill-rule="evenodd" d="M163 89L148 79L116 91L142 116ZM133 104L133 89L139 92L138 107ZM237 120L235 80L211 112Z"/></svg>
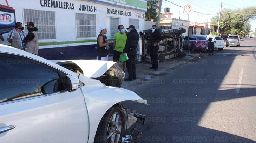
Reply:
<svg viewBox="0 0 256 143"><path fill-rule="evenodd" d="M96 15L76 13L77 38L96 37Z"/></svg>

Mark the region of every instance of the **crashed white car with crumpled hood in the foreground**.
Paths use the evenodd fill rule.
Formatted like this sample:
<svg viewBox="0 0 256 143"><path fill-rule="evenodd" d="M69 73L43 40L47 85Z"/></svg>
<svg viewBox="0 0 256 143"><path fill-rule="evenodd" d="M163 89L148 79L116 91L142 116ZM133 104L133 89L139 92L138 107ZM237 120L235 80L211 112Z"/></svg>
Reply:
<svg viewBox="0 0 256 143"><path fill-rule="evenodd" d="M0 45L0 143L118 143L126 127L145 120L121 103L146 100L92 79L114 62L59 64Z"/></svg>

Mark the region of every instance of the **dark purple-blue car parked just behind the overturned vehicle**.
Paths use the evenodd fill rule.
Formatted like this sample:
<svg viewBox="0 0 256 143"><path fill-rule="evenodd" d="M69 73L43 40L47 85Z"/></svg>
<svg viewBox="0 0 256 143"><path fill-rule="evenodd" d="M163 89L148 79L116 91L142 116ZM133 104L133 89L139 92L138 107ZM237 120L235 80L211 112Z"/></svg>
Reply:
<svg viewBox="0 0 256 143"><path fill-rule="evenodd" d="M188 49L188 45L190 47L189 49L193 52L197 50L206 50L208 47L207 37L202 35L190 35L189 38L185 37L183 48Z"/></svg>

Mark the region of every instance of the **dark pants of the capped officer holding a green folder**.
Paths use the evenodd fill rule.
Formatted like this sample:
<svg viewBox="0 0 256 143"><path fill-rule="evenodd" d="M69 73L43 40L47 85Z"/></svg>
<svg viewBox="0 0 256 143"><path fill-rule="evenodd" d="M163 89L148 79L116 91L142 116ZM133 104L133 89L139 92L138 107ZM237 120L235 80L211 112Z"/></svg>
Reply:
<svg viewBox="0 0 256 143"><path fill-rule="evenodd" d="M136 78L136 67L135 67L136 54L137 54L136 50L127 52L128 60L126 61L126 68L127 68L130 79Z"/></svg>

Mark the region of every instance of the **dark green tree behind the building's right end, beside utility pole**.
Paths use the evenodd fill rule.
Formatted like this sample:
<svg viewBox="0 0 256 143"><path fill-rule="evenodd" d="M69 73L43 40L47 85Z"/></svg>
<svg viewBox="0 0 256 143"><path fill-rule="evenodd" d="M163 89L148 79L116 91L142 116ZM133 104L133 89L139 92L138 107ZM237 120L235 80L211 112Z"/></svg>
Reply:
<svg viewBox="0 0 256 143"><path fill-rule="evenodd" d="M147 12L145 13L146 21L156 21L157 16L157 0L147 1Z"/></svg>

